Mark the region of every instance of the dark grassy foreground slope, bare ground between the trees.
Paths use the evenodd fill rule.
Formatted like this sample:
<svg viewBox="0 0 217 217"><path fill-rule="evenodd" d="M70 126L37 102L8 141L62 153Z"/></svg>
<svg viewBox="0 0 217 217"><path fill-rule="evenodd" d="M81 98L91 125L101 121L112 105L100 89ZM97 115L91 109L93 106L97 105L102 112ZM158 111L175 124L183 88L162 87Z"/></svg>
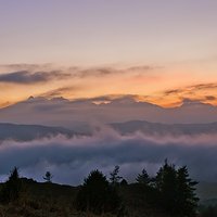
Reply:
<svg viewBox="0 0 217 217"><path fill-rule="evenodd" d="M75 199L79 187L55 183L39 183L23 179L25 192L22 200L0 206L0 216L7 217L94 217L93 214L76 210ZM154 210L138 184L119 187L125 210L119 217L166 217ZM103 214L102 217L117 215Z"/></svg>

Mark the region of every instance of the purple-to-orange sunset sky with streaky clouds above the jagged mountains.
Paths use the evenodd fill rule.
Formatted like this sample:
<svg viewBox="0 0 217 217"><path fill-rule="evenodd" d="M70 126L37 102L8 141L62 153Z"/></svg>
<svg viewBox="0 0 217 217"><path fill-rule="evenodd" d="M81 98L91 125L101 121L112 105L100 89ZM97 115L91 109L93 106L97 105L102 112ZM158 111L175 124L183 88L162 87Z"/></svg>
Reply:
<svg viewBox="0 0 217 217"><path fill-rule="evenodd" d="M132 94L217 105L216 0L0 0L0 106Z"/></svg>

